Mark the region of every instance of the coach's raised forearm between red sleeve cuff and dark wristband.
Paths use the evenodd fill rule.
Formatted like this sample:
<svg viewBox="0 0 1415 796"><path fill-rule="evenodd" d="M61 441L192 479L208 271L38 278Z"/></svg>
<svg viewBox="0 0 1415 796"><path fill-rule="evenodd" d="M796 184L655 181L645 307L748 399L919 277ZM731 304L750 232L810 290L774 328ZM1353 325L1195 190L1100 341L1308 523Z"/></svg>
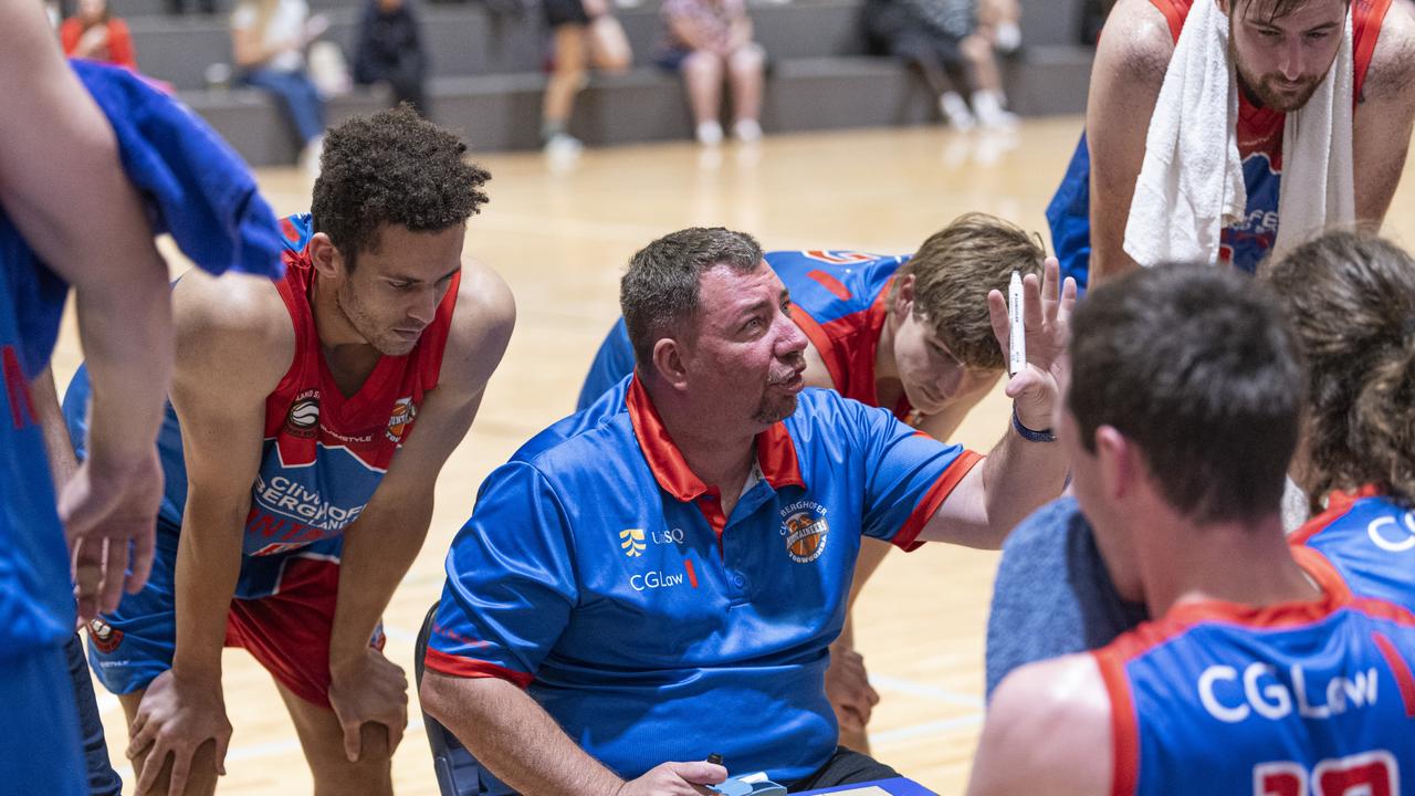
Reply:
<svg viewBox="0 0 1415 796"><path fill-rule="evenodd" d="M1009 426L982 469L988 527L996 550L1017 523L1061 494L1067 457L1060 443L1032 442Z"/></svg>

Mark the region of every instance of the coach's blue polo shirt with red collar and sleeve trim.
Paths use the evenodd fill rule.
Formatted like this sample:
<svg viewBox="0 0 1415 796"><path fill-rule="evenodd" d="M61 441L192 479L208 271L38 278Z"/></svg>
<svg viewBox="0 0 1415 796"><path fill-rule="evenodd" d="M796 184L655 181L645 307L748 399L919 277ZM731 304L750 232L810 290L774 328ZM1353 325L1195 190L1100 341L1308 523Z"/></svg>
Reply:
<svg viewBox="0 0 1415 796"><path fill-rule="evenodd" d="M483 483L426 666L526 687L625 779L710 752L804 778L836 748L824 677L860 538L918 547L979 460L807 390L724 517L630 377Z"/></svg>

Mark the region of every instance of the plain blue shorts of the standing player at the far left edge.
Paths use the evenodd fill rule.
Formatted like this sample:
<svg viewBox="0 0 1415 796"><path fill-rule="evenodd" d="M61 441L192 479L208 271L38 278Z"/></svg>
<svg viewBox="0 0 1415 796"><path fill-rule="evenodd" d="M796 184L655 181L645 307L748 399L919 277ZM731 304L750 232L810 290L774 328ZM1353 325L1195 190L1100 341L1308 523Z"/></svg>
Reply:
<svg viewBox="0 0 1415 796"><path fill-rule="evenodd" d="M0 790L86 796L88 768L79 741L74 686L64 640L0 659Z"/></svg>

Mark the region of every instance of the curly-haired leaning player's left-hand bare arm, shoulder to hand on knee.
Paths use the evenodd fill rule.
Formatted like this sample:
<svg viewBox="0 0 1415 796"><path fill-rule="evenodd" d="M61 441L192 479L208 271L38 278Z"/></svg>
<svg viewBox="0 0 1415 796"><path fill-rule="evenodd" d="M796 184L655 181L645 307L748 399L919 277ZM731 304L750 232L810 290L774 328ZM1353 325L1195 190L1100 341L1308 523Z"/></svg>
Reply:
<svg viewBox="0 0 1415 796"><path fill-rule="evenodd" d="M157 779L168 754L173 793L183 793L191 758L208 739L215 739L221 769L231 738L221 695L226 613L260 467L266 397L294 358L294 329L267 279L192 272L173 290L173 307L171 401L183 426L188 490L177 547L173 667L142 694L130 728L129 756L153 763L139 766L139 793ZM133 715L130 703L125 698Z"/></svg>

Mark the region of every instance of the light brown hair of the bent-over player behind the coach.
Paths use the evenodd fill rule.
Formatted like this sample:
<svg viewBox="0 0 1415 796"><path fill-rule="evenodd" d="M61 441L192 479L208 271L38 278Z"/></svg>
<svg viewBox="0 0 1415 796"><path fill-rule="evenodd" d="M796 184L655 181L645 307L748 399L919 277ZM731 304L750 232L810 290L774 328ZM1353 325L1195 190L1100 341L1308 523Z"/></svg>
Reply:
<svg viewBox="0 0 1415 796"><path fill-rule="evenodd" d="M899 266L890 306L903 276L914 275L914 316L965 365L1002 370L1002 350L988 317L988 292L1007 292L1013 271L1041 275L1046 251L1036 235L985 212L959 215L930 235Z"/></svg>

